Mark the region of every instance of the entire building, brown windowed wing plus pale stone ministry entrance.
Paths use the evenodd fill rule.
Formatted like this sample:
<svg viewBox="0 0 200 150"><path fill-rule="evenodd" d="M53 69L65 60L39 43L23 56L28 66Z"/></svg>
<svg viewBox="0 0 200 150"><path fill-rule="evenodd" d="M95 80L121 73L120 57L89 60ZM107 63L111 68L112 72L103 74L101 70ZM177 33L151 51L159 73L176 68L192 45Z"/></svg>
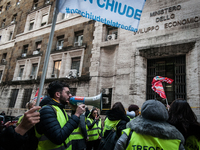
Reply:
<svg viewBox="0 0 200 150"><path fill-rule="evenodd" d="M11 0L5 10L8 2L0 2L0 23L5 22L0 29L0 57L4 59L6 53L6 63L0 65L0 108L16 114L24 107L25 93L31 93L31 99L39 86L55 4L52 0L21 0L18 5ZM117 101L127 109L155 98L165 104L151 89L153 77L164 76L174 79L172 84L163 83L168 102L184 98L199 117L199 6L196 0L148 0L137 32L77 14L59 14L45 88L55 79L65 80L78 96L102 92L104 110ZM11 31L12 39L7 40ZM77 70L78 77L68 78L70 70Z"/></svg>

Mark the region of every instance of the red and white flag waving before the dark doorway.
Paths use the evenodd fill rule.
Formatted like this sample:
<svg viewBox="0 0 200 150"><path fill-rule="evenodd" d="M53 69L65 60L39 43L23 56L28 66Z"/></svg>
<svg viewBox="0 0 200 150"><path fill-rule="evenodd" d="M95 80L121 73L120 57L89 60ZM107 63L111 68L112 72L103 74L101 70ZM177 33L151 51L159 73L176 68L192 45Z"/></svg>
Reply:
<svg viewBox="0 0 200 150"><path fill-rule="evenodd" d="M155 91L156 93L158 93L160 95L160 97L166 99L166 95L165 95L165 91L162 85L162 82L167 82L169 84L171 84L174 80L167 78L167 77L161 77L161 76L156 76L153 78L152 81L152 90Z"/></svg>

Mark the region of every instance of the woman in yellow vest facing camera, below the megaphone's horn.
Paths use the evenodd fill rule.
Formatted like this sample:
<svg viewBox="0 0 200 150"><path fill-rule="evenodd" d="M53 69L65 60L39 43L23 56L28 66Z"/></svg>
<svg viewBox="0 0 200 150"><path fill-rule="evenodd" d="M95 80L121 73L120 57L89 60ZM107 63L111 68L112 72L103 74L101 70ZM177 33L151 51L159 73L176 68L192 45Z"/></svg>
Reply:
<svg viewBox="0 0 200 150"><path fill-rule="evenodd" d="M97 150L102 137L102 125L101 118L98 115L96 108L92 109L91 113L89 114L86 120L86 125L88 134L86 150Z"/></svg>

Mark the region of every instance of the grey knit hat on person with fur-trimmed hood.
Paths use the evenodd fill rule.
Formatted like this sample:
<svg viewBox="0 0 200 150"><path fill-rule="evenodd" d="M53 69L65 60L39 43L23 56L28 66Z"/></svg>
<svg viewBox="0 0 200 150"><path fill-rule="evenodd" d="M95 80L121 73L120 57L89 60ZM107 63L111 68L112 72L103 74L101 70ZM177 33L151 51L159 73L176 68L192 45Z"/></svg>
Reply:
<svg viewBox="0 0 200 150"><path fill-rule="evenodd" d="M167 121L169 118L165 106L157 100L147 100L141 108L142 117L154 121Z"/></svg>

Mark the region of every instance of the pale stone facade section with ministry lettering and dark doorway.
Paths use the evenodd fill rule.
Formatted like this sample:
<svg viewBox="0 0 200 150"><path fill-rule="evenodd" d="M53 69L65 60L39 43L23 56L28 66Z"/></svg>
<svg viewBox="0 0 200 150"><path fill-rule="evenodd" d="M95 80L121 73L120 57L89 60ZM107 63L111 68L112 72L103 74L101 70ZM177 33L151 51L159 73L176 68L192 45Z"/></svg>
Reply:
<svg viewBox="0 0 200 150"><path fill-rule="evenodd" d="M112 90L111 104L121 101L125 108L141 107L155 98L166 104L152 91L151 82L155 76L169 77L174 82L163 83L169 103L184 98L199 117L199 6L195 0L148 0L138 32L96 22L90 92ZM109 39L108 34L115 38Z"/></svg>

